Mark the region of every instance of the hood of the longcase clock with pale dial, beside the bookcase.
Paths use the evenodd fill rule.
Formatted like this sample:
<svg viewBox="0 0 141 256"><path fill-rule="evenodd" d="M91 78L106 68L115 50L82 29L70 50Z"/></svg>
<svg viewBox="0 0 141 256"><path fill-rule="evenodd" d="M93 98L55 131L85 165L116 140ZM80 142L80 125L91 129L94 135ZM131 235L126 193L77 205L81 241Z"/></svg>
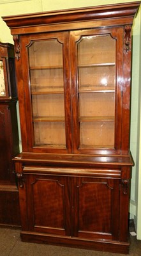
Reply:
<svg viewBox="0 0 141 256"><path fill-rule="evenodd" d="M14 46L0 42L0 100L17 97Z"/></svg>

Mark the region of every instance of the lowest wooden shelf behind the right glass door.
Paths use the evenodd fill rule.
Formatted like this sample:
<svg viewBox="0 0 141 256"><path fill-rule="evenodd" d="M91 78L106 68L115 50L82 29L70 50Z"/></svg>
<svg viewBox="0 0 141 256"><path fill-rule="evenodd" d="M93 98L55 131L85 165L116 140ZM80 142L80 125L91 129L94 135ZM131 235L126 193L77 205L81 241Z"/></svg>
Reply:
<svg viewBox="0 0 141 256"><path fill-rule="evenodd" d="M114 116L81 116L79 122L114 122Z"/></svg>

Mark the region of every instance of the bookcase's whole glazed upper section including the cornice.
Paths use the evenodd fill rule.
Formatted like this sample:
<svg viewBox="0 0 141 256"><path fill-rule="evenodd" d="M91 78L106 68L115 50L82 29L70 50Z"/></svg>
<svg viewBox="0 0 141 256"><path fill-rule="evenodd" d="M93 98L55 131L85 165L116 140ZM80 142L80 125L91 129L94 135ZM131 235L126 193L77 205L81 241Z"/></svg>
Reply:
<svg viewBox="0 0 141 256"><path fill-rule="evenodd" d="M128 154L139 5L3 17L15 42L24 152Z"/></svg>

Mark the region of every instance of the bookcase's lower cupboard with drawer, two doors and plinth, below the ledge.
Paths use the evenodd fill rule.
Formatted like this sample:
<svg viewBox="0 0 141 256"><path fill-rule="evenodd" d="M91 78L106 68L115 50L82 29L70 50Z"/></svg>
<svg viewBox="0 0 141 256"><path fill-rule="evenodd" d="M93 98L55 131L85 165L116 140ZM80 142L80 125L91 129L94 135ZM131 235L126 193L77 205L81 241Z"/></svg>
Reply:
<svg viewBox="0 0 141 256"><path fill-rule="evenodd" d="M128 253L121 170L26 166L19 176L22 241Z"/></svg>

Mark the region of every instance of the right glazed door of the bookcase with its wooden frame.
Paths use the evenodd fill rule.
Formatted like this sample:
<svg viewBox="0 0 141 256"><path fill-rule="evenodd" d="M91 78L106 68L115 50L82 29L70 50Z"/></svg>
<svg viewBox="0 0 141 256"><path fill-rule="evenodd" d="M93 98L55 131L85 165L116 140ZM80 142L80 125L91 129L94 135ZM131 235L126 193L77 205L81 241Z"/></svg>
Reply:
<svg viewBox="0 0 141 256"><path fill-rule="evenodd" d="M120 148L121 35L121 28L71 33L75 153L97 154L103 151L105 154Z"/></svg>

